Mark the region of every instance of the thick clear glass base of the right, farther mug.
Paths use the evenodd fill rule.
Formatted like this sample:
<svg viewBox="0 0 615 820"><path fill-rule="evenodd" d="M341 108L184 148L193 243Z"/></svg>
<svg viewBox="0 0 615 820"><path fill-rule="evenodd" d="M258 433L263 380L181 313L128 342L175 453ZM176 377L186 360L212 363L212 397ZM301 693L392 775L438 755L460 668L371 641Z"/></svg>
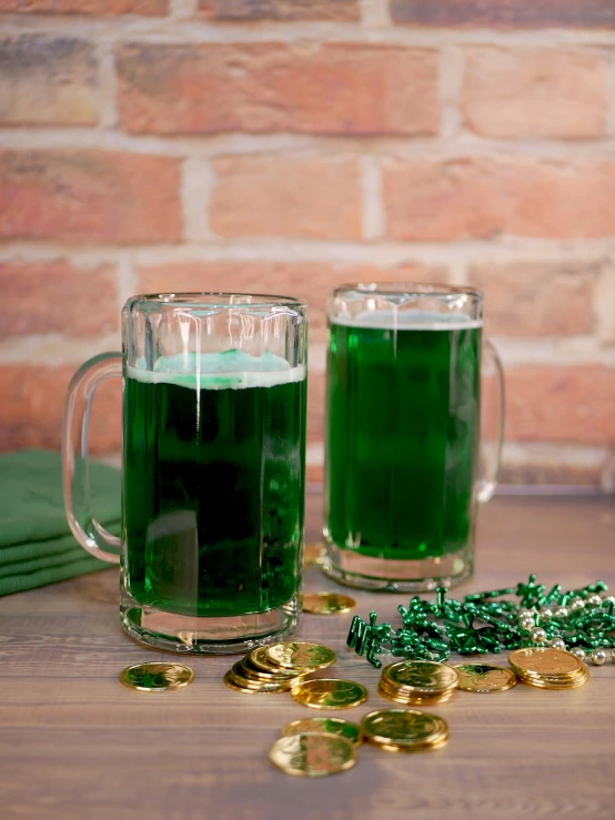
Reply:
<svg viewBox="0 0 615 820"><path fill-rule="evenodd" d="M355 589L386 593L433 593L436 587L454 587L473 573L472 549L422 558L392 560L372 558L325 541L322 567L330 578Z"/></svg>

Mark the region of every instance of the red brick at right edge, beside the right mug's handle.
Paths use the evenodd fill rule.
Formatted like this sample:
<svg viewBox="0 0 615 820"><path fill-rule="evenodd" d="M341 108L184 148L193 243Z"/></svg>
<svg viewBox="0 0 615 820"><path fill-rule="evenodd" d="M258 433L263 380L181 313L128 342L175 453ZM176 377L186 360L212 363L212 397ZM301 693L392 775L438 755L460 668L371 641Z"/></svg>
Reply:
<svg viewBox="0 0 615 820"><path fill-rule="evenodd" d="M615 369L515 367L506 378L511 442L615 442Z"/></svg>

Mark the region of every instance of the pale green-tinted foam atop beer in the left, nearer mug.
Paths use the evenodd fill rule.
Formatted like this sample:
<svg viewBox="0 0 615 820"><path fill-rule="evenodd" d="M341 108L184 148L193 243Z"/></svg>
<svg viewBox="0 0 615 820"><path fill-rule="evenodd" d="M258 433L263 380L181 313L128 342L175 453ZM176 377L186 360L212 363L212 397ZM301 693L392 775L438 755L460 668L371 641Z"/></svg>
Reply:
<svg viewBox="0 0 615 820"><path fill-rule="evenodd" d="M243 351L224 353L186 353L162 356L154 369L145 367L140 358L134 367L127 367L129 378L148 384L173 384L201 389L243 389L245 387L274 387L305 378L305 365L291 367L285 358L265 352L251 356Z"/></svg>

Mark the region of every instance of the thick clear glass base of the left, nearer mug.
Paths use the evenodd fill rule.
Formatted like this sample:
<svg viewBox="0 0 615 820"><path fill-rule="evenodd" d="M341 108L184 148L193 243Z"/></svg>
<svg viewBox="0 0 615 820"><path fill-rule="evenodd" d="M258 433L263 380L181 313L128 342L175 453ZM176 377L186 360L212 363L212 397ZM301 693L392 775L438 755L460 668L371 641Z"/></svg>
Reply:
<svg viewBox="0 0 615 820"><path fill-rule="evenodd" d="M143 606L122 590L120 617L124 631L140 644L181 655L245 655L294 632L298 597L264 613L229 617L175 615Z"/></svg>

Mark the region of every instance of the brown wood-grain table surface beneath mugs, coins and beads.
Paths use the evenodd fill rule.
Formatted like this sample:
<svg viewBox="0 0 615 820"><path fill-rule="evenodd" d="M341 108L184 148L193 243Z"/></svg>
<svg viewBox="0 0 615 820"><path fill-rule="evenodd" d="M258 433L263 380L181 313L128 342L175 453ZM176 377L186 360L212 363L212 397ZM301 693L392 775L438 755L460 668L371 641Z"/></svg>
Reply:
<svg viewBox="0 0 615 820"><path fill-rule="evenodd" d="M308 507L314 540L320 498ZM496 498L481 512L477 571L461 591L512 585L531 571L547 585L615 586L614 536L612 499ZM312 567L305 588L335 585ZM407 598L351 595L357 614L376 609L394 624ZM351 617L306 615L298 637L335 649L334 674L367 687L366 703L332 712L360 720L387 702L376 694L379 672L345 649ZM189 659L196 678L175 692L118 682L125 666L157 656L171 657L119 627L114 569L0 599L0 818L615 817L611 658L581 689L456 692L434 708L450 723L444 749L392 755L363 746L351 771L309 780L273 768L268 750L284 723L316 712L286 695L229 691L230 657Z"/></svg>

